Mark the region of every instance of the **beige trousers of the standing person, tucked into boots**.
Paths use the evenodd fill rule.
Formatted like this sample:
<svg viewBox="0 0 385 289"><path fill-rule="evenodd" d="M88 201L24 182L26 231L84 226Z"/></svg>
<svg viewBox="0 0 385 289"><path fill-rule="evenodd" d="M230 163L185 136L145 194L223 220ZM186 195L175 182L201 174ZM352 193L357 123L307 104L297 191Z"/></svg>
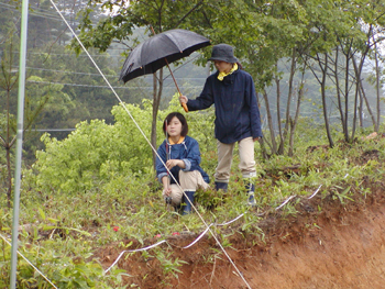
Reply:
<svg viewBox="0 0 385 289"><path fill-rule="evenodd" d="M215 178L218 182L229 182L232 163L232 154L235 143L223 144L217 141L218 166ZM254 160L254 141L253 137L246 137L238 142L238 151L240 155L239 168L243 178L252 178L256 176Z"/></svg>

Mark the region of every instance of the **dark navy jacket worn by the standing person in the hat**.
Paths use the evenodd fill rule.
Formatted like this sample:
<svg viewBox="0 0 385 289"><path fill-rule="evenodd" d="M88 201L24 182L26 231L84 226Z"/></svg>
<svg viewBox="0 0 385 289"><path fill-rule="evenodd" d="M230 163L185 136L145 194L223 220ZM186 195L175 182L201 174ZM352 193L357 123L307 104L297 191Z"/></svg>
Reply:
<svg viewBox="0 0 385 289"><path fill-rule="evenodd" d="M253 78L238 69L218 80L218 71L210 75L197 99L188 100L189 111L216 105L216 138L232 144L245 137L261 137L261 119Z"/></svg>

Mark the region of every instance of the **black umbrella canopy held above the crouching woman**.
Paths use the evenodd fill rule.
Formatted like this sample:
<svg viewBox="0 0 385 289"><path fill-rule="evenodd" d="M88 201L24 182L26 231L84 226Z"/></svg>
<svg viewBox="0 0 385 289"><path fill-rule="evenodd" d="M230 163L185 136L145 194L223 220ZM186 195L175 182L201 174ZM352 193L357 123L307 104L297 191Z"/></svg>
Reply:
<svg viewBox="0 0 385 289"><path fill-rule="evenodd" d="M154 74L169 63L208 45L208 38L188 30L175 29L156 34L132 49L123 64L119 80L127 82L142 75Z"/></svg>

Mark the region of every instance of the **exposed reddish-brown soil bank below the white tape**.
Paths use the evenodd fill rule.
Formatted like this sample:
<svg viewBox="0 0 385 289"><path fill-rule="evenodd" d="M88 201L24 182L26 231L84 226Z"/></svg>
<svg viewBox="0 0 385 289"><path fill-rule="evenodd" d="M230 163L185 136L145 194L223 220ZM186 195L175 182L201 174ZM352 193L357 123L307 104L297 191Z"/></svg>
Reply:
<svg viewBox="0 0 385 289"><path fill-rule="evenodd" d="M235 233L227 252L249 286L385 288L385 186L365 182L362 186L372 187L374 192L355 196L354 202L341 204L331 194L316 196L298 203L296 216L267 215L258 224L265 243L255 235ZM318 205L322 208L320 212ZM173 236L168 242L180 247L196 237ZM117 266L132 276L128 284L140 288L248 288L228 258L218 254L212 237L207 236L188 249L176 246L172 256L188 263L179 267L183 274L178 278L168 276L165 280L158 260L145 259L140 253L121 258ZM163 248L167 249L167 245ZM111 246L97 256L107 268L121 251Z"/></svg>

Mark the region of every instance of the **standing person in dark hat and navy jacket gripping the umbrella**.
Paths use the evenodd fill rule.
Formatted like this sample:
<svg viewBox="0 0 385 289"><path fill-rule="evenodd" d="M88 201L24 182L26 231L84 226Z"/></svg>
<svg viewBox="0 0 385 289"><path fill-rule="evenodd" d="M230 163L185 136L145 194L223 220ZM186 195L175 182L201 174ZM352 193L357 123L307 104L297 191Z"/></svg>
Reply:
<svg viewBox="0 0 385 289"><path fill-rule="evenodd" d="M180 96L179 101L186 103L189 111L215 104L218 149L216 189L228 190L233 148L238 143L239 168L246 180L248 202L255 205L255 186L252 182L256 177L254 142L262 137L262 130L254 82L251 75L241 69L233 47L228 44L215 45L209 60L218 70L206 79L200 96L195 100Z"/></svg>

